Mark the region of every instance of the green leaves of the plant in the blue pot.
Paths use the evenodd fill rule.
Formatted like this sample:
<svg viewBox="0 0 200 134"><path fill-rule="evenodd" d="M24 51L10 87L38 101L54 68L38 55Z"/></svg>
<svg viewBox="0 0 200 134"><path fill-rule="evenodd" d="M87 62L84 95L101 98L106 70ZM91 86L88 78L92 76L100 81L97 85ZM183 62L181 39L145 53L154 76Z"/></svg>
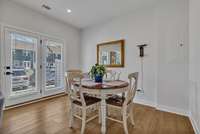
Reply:
<svg viewBox="0 0 200 134"><path fill-rule="evenodd" d="M89 72L91 78L94 78L95 76L104 76L105 74L106 74L106 67L104 65L98 65L98 64L92 66Z"/></svg>

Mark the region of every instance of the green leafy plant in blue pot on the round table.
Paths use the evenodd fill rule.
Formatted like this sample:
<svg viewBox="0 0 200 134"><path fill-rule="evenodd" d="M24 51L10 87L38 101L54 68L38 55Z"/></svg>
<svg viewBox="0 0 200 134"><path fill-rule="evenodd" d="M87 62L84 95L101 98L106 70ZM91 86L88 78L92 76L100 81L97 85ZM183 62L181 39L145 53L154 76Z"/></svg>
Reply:
<svg viewBox="0 0 200 134"><path fill-rule="evenodd" d="M95 82L102 83L103 76L106 74L106 68L104 65L95 64L92 66L89 75L92 79L95 79Z"/></svg>

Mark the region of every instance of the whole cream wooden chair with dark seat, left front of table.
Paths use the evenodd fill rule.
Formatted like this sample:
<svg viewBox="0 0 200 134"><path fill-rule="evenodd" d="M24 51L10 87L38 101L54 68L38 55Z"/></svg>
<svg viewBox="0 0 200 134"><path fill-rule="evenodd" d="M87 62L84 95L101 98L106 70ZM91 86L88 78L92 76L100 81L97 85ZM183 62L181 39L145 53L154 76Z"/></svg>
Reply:
<svg viewBox="0 0 200 134"><path fill-rule="evenodd" d="M94 105L98 104L101 100L89 95L84 94L82 91L81 81L83 75L80 72L67 72L67 84L69 89L69 127L72 127L74 117L82 121L81 134L84 134L86 123L98 117L99 114L95 114L90 118L86 118L87 112L91 112L90 109ZM77 112L78 109L80 111Z"/></svg>

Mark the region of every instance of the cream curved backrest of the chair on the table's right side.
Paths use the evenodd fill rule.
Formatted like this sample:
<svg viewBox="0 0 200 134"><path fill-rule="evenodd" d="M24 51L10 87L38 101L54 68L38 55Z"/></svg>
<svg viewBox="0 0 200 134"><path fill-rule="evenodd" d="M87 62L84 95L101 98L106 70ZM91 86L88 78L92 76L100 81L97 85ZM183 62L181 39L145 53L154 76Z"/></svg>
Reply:
<svg viewBox="0 0 200 134"><path fill-rule="evenodd" d="M130 104L133 101L133 98L135 97L137 84L138 84L138 74L139 74L138 72L135 72L128 75L129 89L128 89L128 92L126 94L126 98L123 104L124 106L127 106L128 104Z"/></svg>

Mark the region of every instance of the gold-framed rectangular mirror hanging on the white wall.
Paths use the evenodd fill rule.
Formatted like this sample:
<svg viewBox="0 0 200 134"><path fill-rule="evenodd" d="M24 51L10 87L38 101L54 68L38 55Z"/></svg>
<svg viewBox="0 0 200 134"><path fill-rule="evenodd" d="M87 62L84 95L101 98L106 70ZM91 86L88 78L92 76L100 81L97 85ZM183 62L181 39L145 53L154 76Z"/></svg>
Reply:
<svg viewBox="0 0 200 134"><path fill-rule="evenodd" d="M125 40L105 42L97 45L97 63L106 67L124 67Z"/></svg>

